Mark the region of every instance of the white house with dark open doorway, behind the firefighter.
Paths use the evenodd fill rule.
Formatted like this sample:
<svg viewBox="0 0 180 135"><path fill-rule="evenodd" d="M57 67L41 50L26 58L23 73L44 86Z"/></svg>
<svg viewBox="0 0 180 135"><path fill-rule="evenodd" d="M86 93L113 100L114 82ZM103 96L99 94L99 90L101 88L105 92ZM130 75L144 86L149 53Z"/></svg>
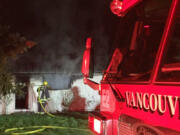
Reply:
<svg viewBox="0 0 180 135"><path fill-rule="evenodd" d="M100 74L96 74L93 80L99 82L101 77L102 76ZM21 83L25 83L26 85L23 88L25 96L18 97L18 95L15 94L9 95L10 98L6 101L6 109L4 108L3 102L0 102L0 114L38 112L37 88L42 84L44 79L48 81L50 87L52 88L49 90L50 101L46 106L46 110L48 112L55 113L69 111L70 108L70 111L94 111L100 103L100 96L98 92L92 90L89 86L84 85L81 75L76 74L73 75L73 77L70 77L65 76L64 74L52 73L18 73L16 74L16 80ZM76 94L73 93L74 90L76 91ZM81 105L76 105L79 100L82 101L79 102Z"/></svg>

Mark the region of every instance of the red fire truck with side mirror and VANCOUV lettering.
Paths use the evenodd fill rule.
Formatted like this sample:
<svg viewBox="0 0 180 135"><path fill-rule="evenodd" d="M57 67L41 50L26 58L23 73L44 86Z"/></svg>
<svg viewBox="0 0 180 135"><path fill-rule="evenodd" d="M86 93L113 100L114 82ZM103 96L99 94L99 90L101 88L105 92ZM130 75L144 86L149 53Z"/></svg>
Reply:
<svg viewBox="0 0 180 135"><path fill-rule="evenodd" d="M180 135L179 7L180 0L111 2L121 34L100 84L89 78L91 38L82 63L84 83L101 96L100 111L89 114L93 133Z"/></svg>

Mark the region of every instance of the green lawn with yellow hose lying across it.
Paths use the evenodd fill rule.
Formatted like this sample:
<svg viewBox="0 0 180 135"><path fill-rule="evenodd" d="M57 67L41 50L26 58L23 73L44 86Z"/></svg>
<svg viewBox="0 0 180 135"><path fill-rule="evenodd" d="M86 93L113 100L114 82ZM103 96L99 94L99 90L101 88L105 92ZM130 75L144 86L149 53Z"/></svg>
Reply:
<svg viewBox="0 0 180 135"><path fill-rule="evenodd" d="M92 135L87 114L66 113L55 117L40 114L0 116L0 135Z"/></svg>

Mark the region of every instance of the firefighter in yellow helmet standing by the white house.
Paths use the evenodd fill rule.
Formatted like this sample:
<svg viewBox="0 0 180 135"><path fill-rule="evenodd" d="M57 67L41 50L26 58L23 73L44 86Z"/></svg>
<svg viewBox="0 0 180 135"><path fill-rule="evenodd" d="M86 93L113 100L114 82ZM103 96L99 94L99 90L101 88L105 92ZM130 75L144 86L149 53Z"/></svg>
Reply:
<svg viewBox="0 0 180 135"><path fill-rule="evenodd" d="M40 114L44 114L45 106L47 104L47 101L50 99L48 89L49 89L49 86L48 86L47 81L44 81L43 84L37 89L37 92L38 92L38 112Z"/></svg>

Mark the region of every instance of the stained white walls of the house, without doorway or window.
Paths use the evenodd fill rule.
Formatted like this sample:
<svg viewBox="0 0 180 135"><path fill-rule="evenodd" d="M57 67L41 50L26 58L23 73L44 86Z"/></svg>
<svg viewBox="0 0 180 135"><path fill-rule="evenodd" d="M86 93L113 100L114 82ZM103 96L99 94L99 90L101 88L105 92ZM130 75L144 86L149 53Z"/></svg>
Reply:
<svg viewBox="0 0 180 135"><path fill-rule="evenodd" d="M100 82L102 76L95 75L93 80ZM7 106L6 113L14 112L37 112L37 88L42 84L43 76L34 75L30 78L28 86L28 109L15 108L15 95L11 95L11 101ZM62 111L93 111L100 103L100 96L97 91L83 84L83 78L73 81L71 88L61 90L49 90L50 101L46 106L49 112ZM2 103L0 102L0 114L2 114Z"/></svg>

